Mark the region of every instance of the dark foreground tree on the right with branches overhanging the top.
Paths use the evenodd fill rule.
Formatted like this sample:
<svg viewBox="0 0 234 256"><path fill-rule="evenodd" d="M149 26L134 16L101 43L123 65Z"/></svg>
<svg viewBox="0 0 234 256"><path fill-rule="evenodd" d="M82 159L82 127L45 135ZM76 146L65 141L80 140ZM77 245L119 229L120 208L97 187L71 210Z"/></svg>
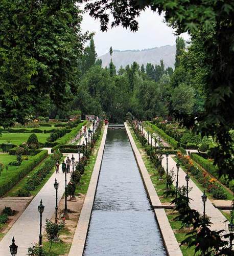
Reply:
<svg viewBox="0 0 234 256"><path fill-rule="evenodd" d="M212 135L217 138L218 146L212 151L214 164L218 164L220 176L228 174L229 179L233 179L234 149L229 131L234 123L232 103L234 102L234 24L232 22L234 2L120 0L116 4L116 1L107 0L87 3L85 8L91 16L100 19L103 31L107 30L110 14L113 14L111 27L122 25L136 31L138 29L136 17L147 7L158 11L159 14L164 12L166 22L176 30L177 34L189 32L192 41L194 38L196 40L197 34L202 38L198 53L204 56L201 66L205 65L210 69L204 84L205 92L209 96L205 100L204 112L199 116L196 115L196 119L194 115L188 116L187 113L175 113L175 116L182 119L186 127L194 127L194 131L199 131L202 135Z"/></svg>

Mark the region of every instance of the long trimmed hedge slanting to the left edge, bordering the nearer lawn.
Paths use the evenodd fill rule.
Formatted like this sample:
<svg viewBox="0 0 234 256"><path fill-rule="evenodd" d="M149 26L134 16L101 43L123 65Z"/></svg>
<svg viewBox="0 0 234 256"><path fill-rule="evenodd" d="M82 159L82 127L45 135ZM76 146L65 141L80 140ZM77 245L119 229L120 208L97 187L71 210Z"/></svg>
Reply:
<svg viewBox="0 0 234 256"><path fill-rule="evenodd" d="M11 180L4 184L0 184L0 196L2 197L7 193L17 182L24 178L31 170L38 165L43 159L48 156L47 150L42 150L37 155L33 156L29 161L20 165L14 172L14 175L11 177ZM12 171L13 172L13 171Z"/></svg>

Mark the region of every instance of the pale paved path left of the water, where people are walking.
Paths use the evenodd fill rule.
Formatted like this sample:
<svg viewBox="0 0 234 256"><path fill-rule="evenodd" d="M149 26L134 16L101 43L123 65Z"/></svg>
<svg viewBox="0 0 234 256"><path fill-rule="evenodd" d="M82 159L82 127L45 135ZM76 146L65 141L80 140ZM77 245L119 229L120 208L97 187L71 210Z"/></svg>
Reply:
<svg viewBox="0 0 234 256"><path fill-rule="evenodd" d="M84 137L81 138L81 144L84 141ZM71 159L72 154L64 154ZM75 161L78 160L78 154L74 154ZM72 172L72 168L71 168ZM17 256L26 256L28 253L28 247L32 243L37 243L39 238L39 212L38 205L42 199L44 205L44 212L42 215L42 233L44 231L45 219L51 219L55 212L55 178L59 183L58 188L58 202L61 200L65 191L65 178L62 173L61 165L59 166L59 173L54 173L48 182L41 188L39 193L33 198L29 206L14 223L8 233L0 242L0 255L10 255L9 245L12 243L12 237L15 238L15 244L18 245ZM70 179L70 175L67 174L67 183Z"/></svg>

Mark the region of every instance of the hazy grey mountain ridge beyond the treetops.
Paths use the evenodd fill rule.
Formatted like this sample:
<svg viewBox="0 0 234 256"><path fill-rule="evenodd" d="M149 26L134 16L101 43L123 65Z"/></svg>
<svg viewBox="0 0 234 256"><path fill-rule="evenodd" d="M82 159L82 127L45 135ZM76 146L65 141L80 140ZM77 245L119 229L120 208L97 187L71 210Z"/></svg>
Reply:
<svg viewBox="0 0 234 256"><path fill-rule="evenodd" d="M123 67L128 64L131 65L133 61L136 61L140 66L144 64L146 66L147 62L152 64L159 64L160 59L163 59L165 67L174 68L175 63L175 53L176 53L176 45L174 46L162 46L155 47L151 49L144 50L113 50L112 53L112 61L116 67L119 69L121 65ZM102 59L102 66L109 66L110 63L110 53L106 53L100 57Z"/></svg>

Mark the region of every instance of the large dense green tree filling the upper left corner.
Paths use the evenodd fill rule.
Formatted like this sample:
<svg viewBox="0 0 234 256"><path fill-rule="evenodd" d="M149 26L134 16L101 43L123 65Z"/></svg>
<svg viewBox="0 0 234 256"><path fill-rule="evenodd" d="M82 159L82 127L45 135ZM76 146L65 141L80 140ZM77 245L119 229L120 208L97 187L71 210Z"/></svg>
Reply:
<svg viewBox="0 0 234 256"><path fill-rule="evenodd" d="M29 121L48 97L65 106L77 89L85 40L78 7L73 1L3 0L0 19L1 125Z"/></svg>

